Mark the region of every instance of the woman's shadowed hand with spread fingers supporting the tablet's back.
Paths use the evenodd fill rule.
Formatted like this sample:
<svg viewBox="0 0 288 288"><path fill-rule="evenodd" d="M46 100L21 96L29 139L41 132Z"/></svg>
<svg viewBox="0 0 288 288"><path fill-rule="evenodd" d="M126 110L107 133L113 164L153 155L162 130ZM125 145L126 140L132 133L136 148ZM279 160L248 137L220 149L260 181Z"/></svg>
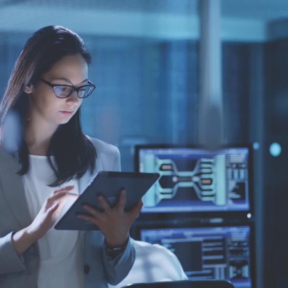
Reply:
<svg viewBox="0 0 288 288"><path fill-rule="evenodd" d="M139 216L143 206L140 200L129 212L124 211L126 203L126 192L120 192L117 205L111 208L103 196L98 196L98 201L102 204L104 212L97 211L89 205L83 205L91 216L79 214L77 217L96 224L102 231L106 243L110 247L122 246L129 237L129 229L135 219Z"/></svg>

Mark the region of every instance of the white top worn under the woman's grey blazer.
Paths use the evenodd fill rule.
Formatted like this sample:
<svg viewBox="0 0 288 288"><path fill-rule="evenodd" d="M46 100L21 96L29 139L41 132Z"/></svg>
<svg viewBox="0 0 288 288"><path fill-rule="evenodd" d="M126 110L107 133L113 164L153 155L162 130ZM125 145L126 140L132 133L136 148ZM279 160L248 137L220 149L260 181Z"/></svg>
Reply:
<svg viewBox="0 0 288 288"><path fill-rule="evenodd" d="M54 156L51 160L54 164ZM47 156L29 155L29 161L29 171L22 176L22 179L32 220L54 190L74 185L74 189L70 192L79 194L78 181L74 179L59 187L48 186L56 178ZM55 224L74 201L75 199L67 201ZM38 240L40 254L38 288L85 288L81 235L79 231L55 230L51 227L46 235Z"/></svg>

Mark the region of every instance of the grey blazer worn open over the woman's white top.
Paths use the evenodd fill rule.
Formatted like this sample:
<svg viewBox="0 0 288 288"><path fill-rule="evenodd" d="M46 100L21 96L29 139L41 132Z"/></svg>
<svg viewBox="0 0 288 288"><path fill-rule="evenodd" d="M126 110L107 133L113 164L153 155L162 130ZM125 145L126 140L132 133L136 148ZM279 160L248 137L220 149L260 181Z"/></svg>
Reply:
<svg viewBox="0 0 288 288"><path fill-rule="evenodd" d="M93 175L88 170L79 179L83 192L92 177L101 170L120 171L119 149L86 135L97 152ZM39 269L39 246L36 241L20 257L12 244L12 233L31 224L24 185L16 174L21 165L0 147L0 288L36 288ZM83 269L86 288L107 288L107 282L116 285L130 271L135 261L135 249L129 239L125 251L110 259L103 245L100 231L81 231L84 237ZM51 275L52 276L52 275Z"/></svg>

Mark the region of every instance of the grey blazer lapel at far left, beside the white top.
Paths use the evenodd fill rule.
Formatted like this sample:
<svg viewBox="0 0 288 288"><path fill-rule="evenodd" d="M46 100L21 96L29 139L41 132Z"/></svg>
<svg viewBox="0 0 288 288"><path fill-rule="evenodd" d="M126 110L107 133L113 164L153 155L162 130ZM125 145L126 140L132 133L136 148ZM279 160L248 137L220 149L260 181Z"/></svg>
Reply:
<svg viewBox="0 0 288 288"><path fill-rule="evenodd" d="M21 165L11 155L0 151L0 184L7 203L23 228L32 222L25 197L22 176L16 174Z"/></svg>

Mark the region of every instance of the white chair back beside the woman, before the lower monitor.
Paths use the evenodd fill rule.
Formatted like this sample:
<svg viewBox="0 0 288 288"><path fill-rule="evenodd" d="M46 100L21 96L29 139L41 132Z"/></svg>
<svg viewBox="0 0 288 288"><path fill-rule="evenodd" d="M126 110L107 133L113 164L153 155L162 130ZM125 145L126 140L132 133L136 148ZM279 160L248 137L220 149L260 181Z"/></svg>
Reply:
<svg viewBox="0 0 288 288"><path fill-rule="evenodd" d="M166 247L144 241L132 240L136 250L135 263L129 274L118 285L120 288L134 283L187 280L178 258Z"/></svg>

